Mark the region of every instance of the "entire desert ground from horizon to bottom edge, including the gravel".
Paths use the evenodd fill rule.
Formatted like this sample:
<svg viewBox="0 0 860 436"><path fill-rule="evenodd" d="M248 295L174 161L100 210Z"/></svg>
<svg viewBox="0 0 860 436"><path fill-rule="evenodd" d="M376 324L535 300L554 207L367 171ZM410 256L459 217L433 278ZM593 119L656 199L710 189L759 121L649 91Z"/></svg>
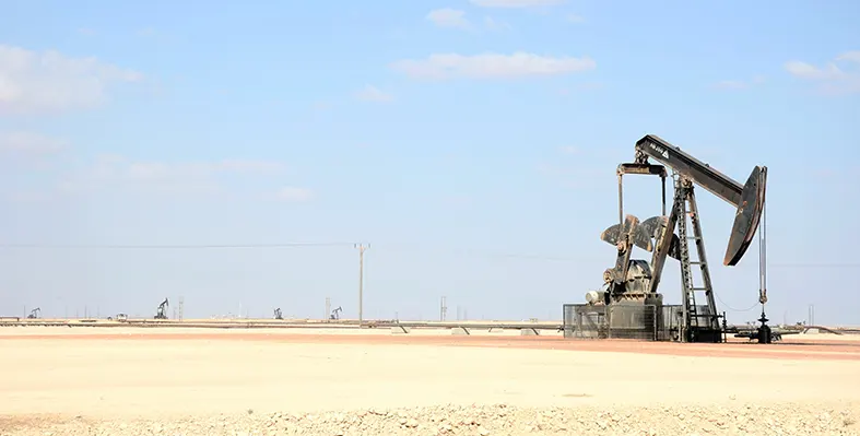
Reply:
<svg viewBox="0 0 860 436"><path fill-rule="evenodd" d="M860 428L860 341L850 340L7 327L0 353L0 435Z"/></svg>

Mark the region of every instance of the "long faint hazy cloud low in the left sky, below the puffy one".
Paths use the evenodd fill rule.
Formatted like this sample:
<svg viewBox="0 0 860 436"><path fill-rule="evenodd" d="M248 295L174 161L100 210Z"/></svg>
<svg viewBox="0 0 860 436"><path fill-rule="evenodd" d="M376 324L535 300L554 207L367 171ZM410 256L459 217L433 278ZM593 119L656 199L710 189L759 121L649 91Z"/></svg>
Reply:
<svg viewBox="0 0 860 436"><path fill-rule="evenodd" d="M61 179L67 193L106 189L131 189L156 193L217 193L221 177L260 177L283 173L284 165L270 161L224 160L216 162L144 162L102 155Z"/></svg>

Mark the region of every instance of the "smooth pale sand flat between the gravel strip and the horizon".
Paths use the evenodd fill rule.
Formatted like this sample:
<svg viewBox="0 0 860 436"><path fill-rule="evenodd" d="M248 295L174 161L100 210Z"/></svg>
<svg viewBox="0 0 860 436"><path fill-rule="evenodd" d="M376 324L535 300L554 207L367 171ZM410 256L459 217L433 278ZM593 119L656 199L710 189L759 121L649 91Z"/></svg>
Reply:
<svg viewBox="0 0 860 436"><path fill-rule="evenodd" d="M704 345L510 331L26 327L0 329L0 431L8 434L48 415L59 423L75 416L172 422L248 411L499 403L860 410L860 341L846 339ZM846 428L853 425L853 417L845 420Z"/></svg>

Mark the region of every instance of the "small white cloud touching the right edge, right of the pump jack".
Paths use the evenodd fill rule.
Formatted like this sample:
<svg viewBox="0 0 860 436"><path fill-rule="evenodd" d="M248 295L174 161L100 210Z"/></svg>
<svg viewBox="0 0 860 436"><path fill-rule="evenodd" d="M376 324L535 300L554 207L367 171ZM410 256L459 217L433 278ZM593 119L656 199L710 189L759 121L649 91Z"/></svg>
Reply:
<svg viewBox="0 0 860 436"><path fill-rule="evenodd" d="M823 67L792 60L785 68L796 78L817 82L825 94L860 93L860 51L846 51Z"/></svg>

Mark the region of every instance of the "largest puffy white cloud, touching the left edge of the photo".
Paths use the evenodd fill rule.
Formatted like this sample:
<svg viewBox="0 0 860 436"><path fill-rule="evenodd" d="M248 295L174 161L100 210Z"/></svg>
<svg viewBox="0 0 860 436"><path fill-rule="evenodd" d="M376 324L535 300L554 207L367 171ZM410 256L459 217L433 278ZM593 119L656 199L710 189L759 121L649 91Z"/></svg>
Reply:
<svg viewBox="0 0 860 436"><path fill-rule="evenodd" d="M48 50L30 51L0 45L0 114L37 114L97 106L107 87L136 82L142 74Z"/></svg>

